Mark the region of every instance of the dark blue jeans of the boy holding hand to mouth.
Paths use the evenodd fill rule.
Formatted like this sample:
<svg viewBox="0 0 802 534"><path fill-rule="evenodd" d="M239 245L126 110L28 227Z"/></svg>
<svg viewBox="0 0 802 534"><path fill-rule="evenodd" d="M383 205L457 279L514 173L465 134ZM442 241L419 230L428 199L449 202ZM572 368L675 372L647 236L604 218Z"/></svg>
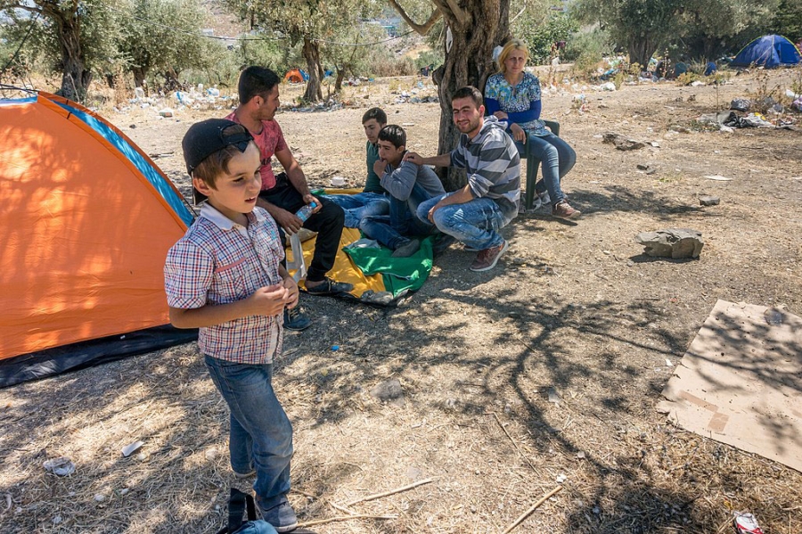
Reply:
<svg viewBox="0 0 802 534"><path fill-rule="evenodd" d="M429 235L434 231L435 227L429 219L422 221L415 214L421 202L430 198L431 195L418 184L413 185L412 192L405 201L389 195L389 216L365 217L359 223L359 229L371 239L395 251L409 242L408 235Z"/></svg>

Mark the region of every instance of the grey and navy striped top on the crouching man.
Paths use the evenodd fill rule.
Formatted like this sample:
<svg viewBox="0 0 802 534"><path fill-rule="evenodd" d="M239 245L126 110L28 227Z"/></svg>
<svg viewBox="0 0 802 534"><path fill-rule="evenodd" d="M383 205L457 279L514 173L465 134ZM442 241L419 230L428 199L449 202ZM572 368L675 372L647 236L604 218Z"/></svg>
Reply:
<svg viewBox="0 0 802 534"><path fill-rule="evenodd" d="M492 199L501 208L504 224L520 207L520 156L512 138L495 117L485 117L479 134L462 134L451 152L451 165L468 172L468 186L476 198Z"/></svg>

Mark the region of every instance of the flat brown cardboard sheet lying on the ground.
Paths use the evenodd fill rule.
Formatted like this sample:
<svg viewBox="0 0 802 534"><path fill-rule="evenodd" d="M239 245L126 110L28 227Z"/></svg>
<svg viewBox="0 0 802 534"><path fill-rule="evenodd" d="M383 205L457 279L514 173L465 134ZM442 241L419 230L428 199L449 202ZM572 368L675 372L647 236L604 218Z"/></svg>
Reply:
<svg viewBox="0 0 802 534"><path fill-rule="evenodd" d="M663 397L685 430L802 472L802 319L718 300Z"/></svg>

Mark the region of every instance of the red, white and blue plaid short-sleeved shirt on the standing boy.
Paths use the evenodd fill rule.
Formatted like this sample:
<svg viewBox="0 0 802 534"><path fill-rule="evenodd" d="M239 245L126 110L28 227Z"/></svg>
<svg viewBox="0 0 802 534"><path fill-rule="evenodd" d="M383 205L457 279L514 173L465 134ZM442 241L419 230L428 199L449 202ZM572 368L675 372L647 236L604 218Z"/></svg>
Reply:
<svg viewBox="0 0 802 534"><path fill-rule="evenodd" d="M226 218L208 202L201 217L168 251L164 286L172 308L201 308L250 297L282 282L284 250L278 227L264 209L248 214L248 227ZM247 316L201 328L203 354L239 364L269 364L282 349L282 315Z"/></svg>

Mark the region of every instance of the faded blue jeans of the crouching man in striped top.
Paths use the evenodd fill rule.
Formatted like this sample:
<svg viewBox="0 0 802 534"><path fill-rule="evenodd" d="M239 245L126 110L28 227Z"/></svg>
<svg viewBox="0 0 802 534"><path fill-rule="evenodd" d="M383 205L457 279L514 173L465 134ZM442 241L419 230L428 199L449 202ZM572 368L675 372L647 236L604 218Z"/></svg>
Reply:
<svg viewBox="0 0 802 534"><path fill-rule="evenodd" d="M418 206L418 218L429 220L429 210L441 199L454 193L436 196ZM478 251L497 247L504 242L498 233L504 226L502 210L492 199L479 198L464 204L448 204L434 213L435 226L443 234Z"/></svg>

